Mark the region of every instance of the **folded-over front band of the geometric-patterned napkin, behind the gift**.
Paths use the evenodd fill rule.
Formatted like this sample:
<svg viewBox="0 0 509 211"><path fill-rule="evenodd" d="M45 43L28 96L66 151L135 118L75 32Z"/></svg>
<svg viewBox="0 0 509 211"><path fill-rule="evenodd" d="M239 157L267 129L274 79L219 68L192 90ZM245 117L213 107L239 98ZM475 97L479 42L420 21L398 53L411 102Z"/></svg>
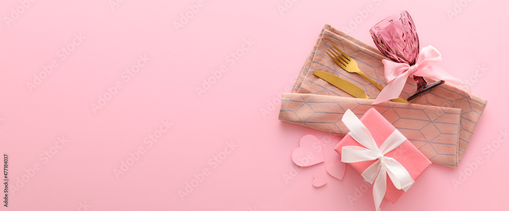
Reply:
<svg viewBox="0 0 509 211"><path fill-rule="evenodd" d="M432 105L382 102L318 94L283 94L279 119L345 136L348 128L341 118L350 109L358 118L375 108L430 161L454 167L458 151L460 109ZM405 118L412 116L412 118Z"/></svg>

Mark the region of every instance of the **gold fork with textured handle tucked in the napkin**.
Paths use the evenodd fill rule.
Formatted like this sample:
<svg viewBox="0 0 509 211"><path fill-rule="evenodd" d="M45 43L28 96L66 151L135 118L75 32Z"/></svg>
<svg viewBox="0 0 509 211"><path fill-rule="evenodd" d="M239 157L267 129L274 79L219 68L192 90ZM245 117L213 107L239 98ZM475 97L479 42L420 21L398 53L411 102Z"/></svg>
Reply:
<svg viewBox="0 0 509 211"><path fill-rule="evenodd" d="M383 87L380 84L378 84L376 81L371 79L369 76L364 74L359 69L359 66L357 65L357 62L355 62L355 60L353 60L352 57L350 57L349 55L347 55L346 53L344 53L340 49L336 48L336 46L332 45L332 47L334 47L334 48L330 48L328 51L332 55L334 55L334 56L331 56L327 52L325 52L325 53L327 53L327 55L329 55L330 58L332 58L332 60L334 60L334 62L337 65L340 65L341 68L343 68L345 71L347 71L349 73L357 73L357 74L361 75L366 80L370 81L373 85L375 85L379 90L383 89ZM394 102L406 102L406 103L408 103L408 101L402 99L401 97L398 97L396 99L391 99L391 100L394 101Z"/></svg>

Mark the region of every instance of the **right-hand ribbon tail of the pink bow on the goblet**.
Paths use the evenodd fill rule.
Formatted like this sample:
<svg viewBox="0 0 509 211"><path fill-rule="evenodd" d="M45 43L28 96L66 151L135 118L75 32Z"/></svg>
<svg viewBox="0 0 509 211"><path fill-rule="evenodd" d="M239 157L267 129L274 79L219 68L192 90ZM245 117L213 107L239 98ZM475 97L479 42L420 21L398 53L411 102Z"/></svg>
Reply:
<svg viewBox="0 0 509 211"><path fill-rule="evenodd" d="M464 81L450 75L444 69L438 67L438 66L425 66L421 69L418 69L413 73L415 76L421 76L421 77L428 77L433 78L436 80L446 81L451 84L457 84L461 86L461 89L466 91L470 97L472 97L472 89L470 85L465 83Z"/></svg>

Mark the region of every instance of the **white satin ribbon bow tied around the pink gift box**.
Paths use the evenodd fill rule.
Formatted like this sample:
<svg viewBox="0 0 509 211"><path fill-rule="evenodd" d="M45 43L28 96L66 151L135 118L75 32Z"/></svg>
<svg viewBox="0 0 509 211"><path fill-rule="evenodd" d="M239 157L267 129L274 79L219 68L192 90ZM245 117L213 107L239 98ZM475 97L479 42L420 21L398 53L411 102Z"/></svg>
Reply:
<svg viewBox="0 0 509 211"><path fill-rule="evenodd" d="M380 210L380 203L387 189L387 174L389 174L389 178L394 184L394 187L405 192L414 183L410 173L408 173L403 165L394 158L385 156L386 153L403 144L407 138L396 129L387 137L379 149L370 131L352 111L347 110L341 120L348 129L350 129L348 134L365 147L343 147L341 150L341 161L345 163L354 163L366 160L377 160L362 172L362 177L371 184L374 183L373 199L375 200L375 210ZM376 177L374 177L375 175Z"/></svg>

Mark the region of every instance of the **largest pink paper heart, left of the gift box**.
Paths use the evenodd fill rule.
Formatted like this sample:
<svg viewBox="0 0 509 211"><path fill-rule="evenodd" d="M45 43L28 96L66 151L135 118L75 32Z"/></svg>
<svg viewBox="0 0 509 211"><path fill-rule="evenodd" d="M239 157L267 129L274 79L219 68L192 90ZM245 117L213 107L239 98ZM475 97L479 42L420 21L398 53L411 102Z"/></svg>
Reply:
<svg viewBox="0 0 509 211"><path fill-rule="evenodd" d="M300 138L300 147L292 153L292 160L298 166L310 166L323 162L323 149L320 140L314 135Z"/></svg>

